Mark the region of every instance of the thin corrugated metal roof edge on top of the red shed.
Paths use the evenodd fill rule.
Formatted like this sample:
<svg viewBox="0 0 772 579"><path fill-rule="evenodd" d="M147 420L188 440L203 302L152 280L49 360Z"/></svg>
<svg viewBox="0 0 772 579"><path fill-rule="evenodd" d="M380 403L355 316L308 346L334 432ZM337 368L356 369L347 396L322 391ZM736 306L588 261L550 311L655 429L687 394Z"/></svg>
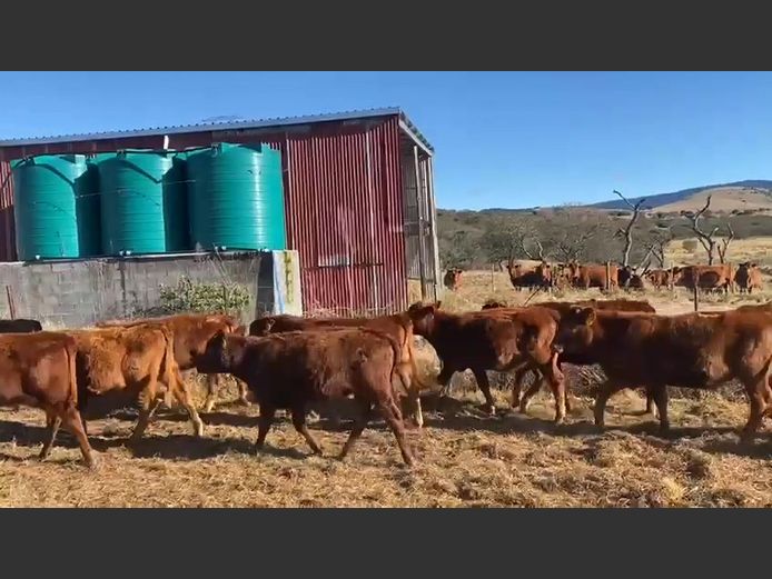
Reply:
<svg viewBox="0 0 772 579"><path fill-rule="evenodd" d="M434 147L426 140L415 124L407 118L399 107L388 107L383 109L354 110L345 112L331 112L325 114L311 114L304 117L281 117L274 119L255 119L232 122L206 122L198 124L177 124L172 127L155 127L147 129L112 131L112 132L89 132L80 134L59 134L56 137L30 137L19 139L0 139L0 147L20 147L26 144L50 144L57 142L90 141L95 139L120 139L125 137L154 137L162 134L179 134L186 132L200 131L227 131L237 129L261 129L275 127L288 127L293 124L310 124L315 122L345 121L355 119L367 119L372 117L399 116L403 130L410 137L420 142L428 151L434 152Z"/></svg>

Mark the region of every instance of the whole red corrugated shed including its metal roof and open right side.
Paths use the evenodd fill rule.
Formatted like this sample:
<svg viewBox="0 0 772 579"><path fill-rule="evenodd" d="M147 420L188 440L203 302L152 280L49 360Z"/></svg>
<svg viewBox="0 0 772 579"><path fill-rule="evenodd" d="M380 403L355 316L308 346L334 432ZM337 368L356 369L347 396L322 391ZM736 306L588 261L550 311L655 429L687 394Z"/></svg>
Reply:
<svg viewBox="0 0 772 579"><path fill-rule="evenodd" d="M287 246L299 252L306 310L396 311L408 279L436 296L434 149L396 108L0 140L0 261L17 260L11 160L216 142L281 150Z"/></svg>

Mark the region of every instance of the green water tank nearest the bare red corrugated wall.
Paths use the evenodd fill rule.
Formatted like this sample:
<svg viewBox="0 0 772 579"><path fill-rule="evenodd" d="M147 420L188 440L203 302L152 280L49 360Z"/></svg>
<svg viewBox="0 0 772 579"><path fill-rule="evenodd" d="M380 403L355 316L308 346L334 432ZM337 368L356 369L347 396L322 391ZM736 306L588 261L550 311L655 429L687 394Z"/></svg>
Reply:
<svg viewBox="0 0 772 579"><path fill-rule="evenodd" d="M281 153L219 143L188 152L190 241L212 250L287 248Z"/></svg>

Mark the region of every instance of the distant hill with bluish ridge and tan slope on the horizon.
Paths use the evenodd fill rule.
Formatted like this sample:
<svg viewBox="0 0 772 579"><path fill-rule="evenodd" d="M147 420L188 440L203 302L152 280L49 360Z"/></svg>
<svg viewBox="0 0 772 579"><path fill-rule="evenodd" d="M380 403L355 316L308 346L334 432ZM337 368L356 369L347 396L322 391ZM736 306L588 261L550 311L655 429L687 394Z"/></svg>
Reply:
<svg viewBox="0 0 772 579"><path fill-rule="evenodd" d="M644 196L646 200L643 207L662 212L693 211L704 206L709 194L713 196L711 201L711 210L713 211L730 212L743 209L772 211L772 181L763 179L709 184L672 193ZM641 197L632 198L630 201L635 203ZM613 199L586 207L601 210L629 209L622 199Z"/></svg>

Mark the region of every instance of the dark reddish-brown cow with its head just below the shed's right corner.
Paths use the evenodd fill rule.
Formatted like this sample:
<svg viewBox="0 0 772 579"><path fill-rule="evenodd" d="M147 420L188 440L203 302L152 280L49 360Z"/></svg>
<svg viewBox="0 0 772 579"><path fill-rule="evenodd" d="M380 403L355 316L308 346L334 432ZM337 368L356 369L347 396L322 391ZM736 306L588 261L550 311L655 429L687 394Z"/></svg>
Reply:
<svg viewBox="0 0 772 579"><path fill-rule="evenodd" d="M516 371L535 366L550 381L555 396L555 421L563 421L564 379L553 350L556 322L551 310L534 307L455 315L439 310L439 306L414 303L408 309L415 333L426 338L443 362L439 385L446 388L455 372L471 369L485 397L485 409L495 413L485 371Z"/></svg>

